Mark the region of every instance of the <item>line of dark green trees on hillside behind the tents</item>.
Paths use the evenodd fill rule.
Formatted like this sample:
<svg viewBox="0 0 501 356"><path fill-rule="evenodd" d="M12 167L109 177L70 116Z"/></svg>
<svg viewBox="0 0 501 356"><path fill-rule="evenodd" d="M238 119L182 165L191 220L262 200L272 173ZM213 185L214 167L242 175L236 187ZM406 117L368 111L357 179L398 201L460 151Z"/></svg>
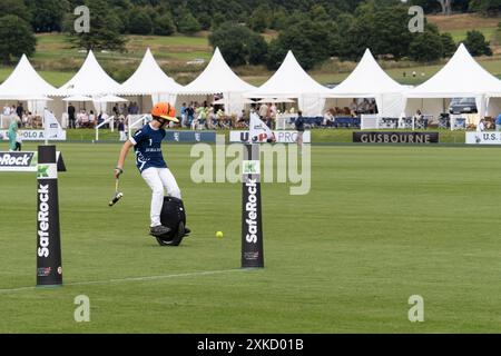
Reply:
<svg viewBox="0 0 501 356"><path fill-rule="evenodd" d="M124 34L194 34L210 31L232 66L266 65L275 69L287 50L311 69L331 57L358 59L365 48L375 56L434 61L455 50L452 37L431 23L413 33L409 7L425 12L501 12L501 0L2 0L0 58L9 62L36 50L33 32L66 32L76 48L122 51ZM90 9L90 32L77 33L73 9ZM267 42L262 36L274 30ZM466 46L474 55L490 55L483 34L471 31Z"/></svg>

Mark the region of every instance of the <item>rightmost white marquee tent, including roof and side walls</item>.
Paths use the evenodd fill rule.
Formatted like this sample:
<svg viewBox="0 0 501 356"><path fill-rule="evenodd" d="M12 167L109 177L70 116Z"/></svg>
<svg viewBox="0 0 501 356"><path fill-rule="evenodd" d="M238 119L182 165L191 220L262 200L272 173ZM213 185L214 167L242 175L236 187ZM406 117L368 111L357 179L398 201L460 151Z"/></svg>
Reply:
<svg viewBox="0 0 501 356"><path fill-rule="evenodd" d="M480 117L497 115L501 112L501 80L483 69L461 43L436 75L406 91L405 97L406 115L416 109L435 116L446 112L451 98L475 98Z"/></svg>

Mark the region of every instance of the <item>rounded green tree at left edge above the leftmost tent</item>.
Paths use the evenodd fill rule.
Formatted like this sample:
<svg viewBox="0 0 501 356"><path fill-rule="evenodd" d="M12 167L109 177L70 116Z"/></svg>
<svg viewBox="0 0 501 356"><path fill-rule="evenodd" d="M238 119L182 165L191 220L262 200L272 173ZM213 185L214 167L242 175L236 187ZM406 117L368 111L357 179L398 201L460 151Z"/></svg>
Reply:
<svg viewBox="0 0 501 356"><path fill-rule="evenodd" d="M4 65L9 65L12 57L33 55L36 46L37 38L28 22L16 14L0 18L0 60Z"/></svg>

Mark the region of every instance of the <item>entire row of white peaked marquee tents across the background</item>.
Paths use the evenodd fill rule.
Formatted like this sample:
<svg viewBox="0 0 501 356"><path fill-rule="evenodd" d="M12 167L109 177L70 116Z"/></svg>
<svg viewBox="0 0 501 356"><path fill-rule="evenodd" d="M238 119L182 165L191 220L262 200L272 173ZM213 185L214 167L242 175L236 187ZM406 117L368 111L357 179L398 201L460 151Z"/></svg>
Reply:
<svg viewBox="0 0 501 356"><path fill-rule="evenodd" d="M321 116L326 108L348 106L353 98L374 98L380 115L385 117L411 116L418 109L436 116L446 111L450 99L474 97L480 116L501 111L501 80L483 69L463 44L435 76L415 88L393 80L369 49L353 72L334 89L316 82L292 51L278 70L256 88L235 75L219 49L205 70L185 87L161 70L149 49L136 72L121 85L106 73L92 51L60 88L45 81L26 56L0 85L0 102L22 100L31 111L48 107L57 116L66 111L68 101L63 98L78 96L92 98L96 108L104 96L122 96L140 102L144 111L160 100L176 102L179 108L181 102L212 101L214 96L223 96L228 113L239 112L248 98L294 99L305 116Z"/></svg>

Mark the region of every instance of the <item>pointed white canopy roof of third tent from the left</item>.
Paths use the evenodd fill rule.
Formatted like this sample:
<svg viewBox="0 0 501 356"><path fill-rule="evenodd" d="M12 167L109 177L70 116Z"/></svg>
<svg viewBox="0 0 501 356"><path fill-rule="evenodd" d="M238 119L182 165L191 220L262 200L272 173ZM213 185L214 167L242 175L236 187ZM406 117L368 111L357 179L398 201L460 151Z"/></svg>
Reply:
<svg viewBox="0 0 501 356"><path fill-rule="evenodd" d="M136 72L121 85L117 93L124 96L175 93L181 88L161 70L148 48Z"/></svg>

